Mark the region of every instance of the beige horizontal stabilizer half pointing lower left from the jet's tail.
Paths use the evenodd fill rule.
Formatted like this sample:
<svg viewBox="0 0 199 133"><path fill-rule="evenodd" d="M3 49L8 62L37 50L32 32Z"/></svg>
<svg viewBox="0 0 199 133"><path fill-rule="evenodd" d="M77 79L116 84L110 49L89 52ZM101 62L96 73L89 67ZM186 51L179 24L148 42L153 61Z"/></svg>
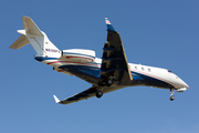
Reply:
<svg viewBox="0 0 199 133"><path fill-rule="evenodd" d="M21 35L12 45L10 45L11 49L19 49L19 48L22 48L27 44L29 44L30 41L27 39L25 35Z"/></svg>

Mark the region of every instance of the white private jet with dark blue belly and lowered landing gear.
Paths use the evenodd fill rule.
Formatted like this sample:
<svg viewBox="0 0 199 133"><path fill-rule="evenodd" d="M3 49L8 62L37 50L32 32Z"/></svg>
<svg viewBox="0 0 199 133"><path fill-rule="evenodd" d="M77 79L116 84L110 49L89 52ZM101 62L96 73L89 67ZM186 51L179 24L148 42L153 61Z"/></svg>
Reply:
<svg viewBox="0 0 199 133"><path fill-rule="evenodd" d="M62 101L53 95L55 103L70 104L93 96L102 98L104 93L138 85L170 90L169 100L172 101L175 91L184 92L189 89L186 82L167 69L128 63L121 35L107 18L107 41L104 43L102 58L96 58L93 50L60 51L31 18L23 16L22 20L24 30L18 30L21 37L11 49L20 49L31 43L36 52L36 61L92 84L90 89Z"/></svg>

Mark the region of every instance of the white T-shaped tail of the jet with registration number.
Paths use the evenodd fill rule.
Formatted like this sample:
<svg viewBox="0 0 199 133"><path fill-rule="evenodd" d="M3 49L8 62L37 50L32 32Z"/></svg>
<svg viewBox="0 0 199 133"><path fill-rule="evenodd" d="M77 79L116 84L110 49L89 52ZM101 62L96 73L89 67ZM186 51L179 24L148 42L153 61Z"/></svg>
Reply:
<svg viewBox="0 0 199 133"><path fill-rule="evenodd" d="M11 49L20 49L31 43L38 53L35 59L61 57L61 51L49 40L46 34L38 28L31 18L22 17L22 20L24 30L18 30L22 35L10 47Z"/></svg>

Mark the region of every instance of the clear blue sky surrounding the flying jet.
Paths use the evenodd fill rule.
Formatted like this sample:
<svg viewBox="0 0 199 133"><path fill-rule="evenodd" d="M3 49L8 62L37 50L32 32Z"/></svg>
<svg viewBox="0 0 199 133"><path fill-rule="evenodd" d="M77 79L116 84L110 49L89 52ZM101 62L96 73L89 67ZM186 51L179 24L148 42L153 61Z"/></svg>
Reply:
<svg viewBox="0 0 199 133"><path fill-rule="evenodd" d="M198 0L1 0L1 133L198 133ZM128 62L169 69L190 89L175 93L134 86L77 103L55 104L91 86L33 59L31 45L9 47L31 17L60 49L102 57L104 18L121 33Z"/></svg>

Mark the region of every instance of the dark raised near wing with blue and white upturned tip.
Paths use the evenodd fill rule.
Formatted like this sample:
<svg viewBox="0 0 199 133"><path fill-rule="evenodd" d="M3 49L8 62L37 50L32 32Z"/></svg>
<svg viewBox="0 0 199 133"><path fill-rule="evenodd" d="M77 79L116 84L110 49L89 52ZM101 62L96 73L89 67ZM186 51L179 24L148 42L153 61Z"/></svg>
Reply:
<svg viewBox="0 0 199 133"><path fill-rule="evenodd" d="M132 83L132 73L121 40L121 35L115 31L107 18L107 42L104 44L102 57L101 76L106 80L113 79L116 84L128 85Z"/></svg>

